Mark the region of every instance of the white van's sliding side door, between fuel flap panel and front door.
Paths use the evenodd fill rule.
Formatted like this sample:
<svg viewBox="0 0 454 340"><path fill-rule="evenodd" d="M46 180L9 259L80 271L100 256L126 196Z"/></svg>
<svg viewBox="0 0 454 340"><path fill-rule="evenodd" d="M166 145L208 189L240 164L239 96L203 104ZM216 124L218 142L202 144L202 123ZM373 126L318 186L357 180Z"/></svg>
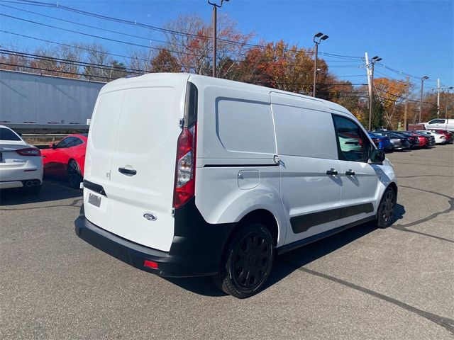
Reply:
<svg viewBox="0 0 454 340"><path fill-rule="evenodd" d="M316 99L271 93L286 244L337 227L341 171L333 120Z"/></svg>

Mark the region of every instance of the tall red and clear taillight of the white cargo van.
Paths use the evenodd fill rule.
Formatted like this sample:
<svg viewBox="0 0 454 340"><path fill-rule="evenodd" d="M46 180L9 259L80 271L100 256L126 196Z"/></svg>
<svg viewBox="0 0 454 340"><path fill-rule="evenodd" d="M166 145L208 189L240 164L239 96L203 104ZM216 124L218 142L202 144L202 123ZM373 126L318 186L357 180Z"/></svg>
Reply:
<svg viewBox="0 0 454 340"><path fill-rule="evenodd" d="M178 137L173 207L179 208L194 196L196 125L184 128Z"/></svg>

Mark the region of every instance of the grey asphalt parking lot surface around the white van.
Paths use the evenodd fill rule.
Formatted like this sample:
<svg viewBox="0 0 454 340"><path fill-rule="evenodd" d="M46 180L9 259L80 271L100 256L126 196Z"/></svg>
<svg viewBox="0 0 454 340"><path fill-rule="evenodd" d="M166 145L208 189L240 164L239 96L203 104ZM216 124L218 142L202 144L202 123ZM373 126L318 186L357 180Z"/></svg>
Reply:
<svg viewBox="0 0 454 340"><path fill-rule="evenodd" d="M387 157L396 220L279 256L246 300L166 280L74 234L82 191L1 193L0 339L453 339L454 145Z"/></svg>

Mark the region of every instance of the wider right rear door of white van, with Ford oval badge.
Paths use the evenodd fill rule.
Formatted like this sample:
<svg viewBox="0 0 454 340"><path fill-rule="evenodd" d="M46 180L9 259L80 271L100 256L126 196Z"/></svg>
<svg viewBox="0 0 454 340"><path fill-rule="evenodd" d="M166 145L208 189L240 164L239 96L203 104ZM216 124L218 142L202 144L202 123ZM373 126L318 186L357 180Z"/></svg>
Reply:
<svg viewBox="0 0 454 340"><path fill-rule="evenodd" d="M130 79L116 131L109 183L110 231L169 251L177 139L188 75Z"/></svg>

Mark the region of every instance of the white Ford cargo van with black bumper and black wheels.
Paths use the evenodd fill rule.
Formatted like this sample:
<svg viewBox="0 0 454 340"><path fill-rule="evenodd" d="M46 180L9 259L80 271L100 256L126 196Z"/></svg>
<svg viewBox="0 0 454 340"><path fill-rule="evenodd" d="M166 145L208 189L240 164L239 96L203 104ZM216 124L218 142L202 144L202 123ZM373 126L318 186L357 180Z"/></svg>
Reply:
<svg viewBox="0 0 454 340"><path fill-rule="evenodd" d="M396 198L392 164L342 106L146 74L101 89L75 230L137 268L213 276L248 297L276 254L366 221L387 227Z"/></svg>

